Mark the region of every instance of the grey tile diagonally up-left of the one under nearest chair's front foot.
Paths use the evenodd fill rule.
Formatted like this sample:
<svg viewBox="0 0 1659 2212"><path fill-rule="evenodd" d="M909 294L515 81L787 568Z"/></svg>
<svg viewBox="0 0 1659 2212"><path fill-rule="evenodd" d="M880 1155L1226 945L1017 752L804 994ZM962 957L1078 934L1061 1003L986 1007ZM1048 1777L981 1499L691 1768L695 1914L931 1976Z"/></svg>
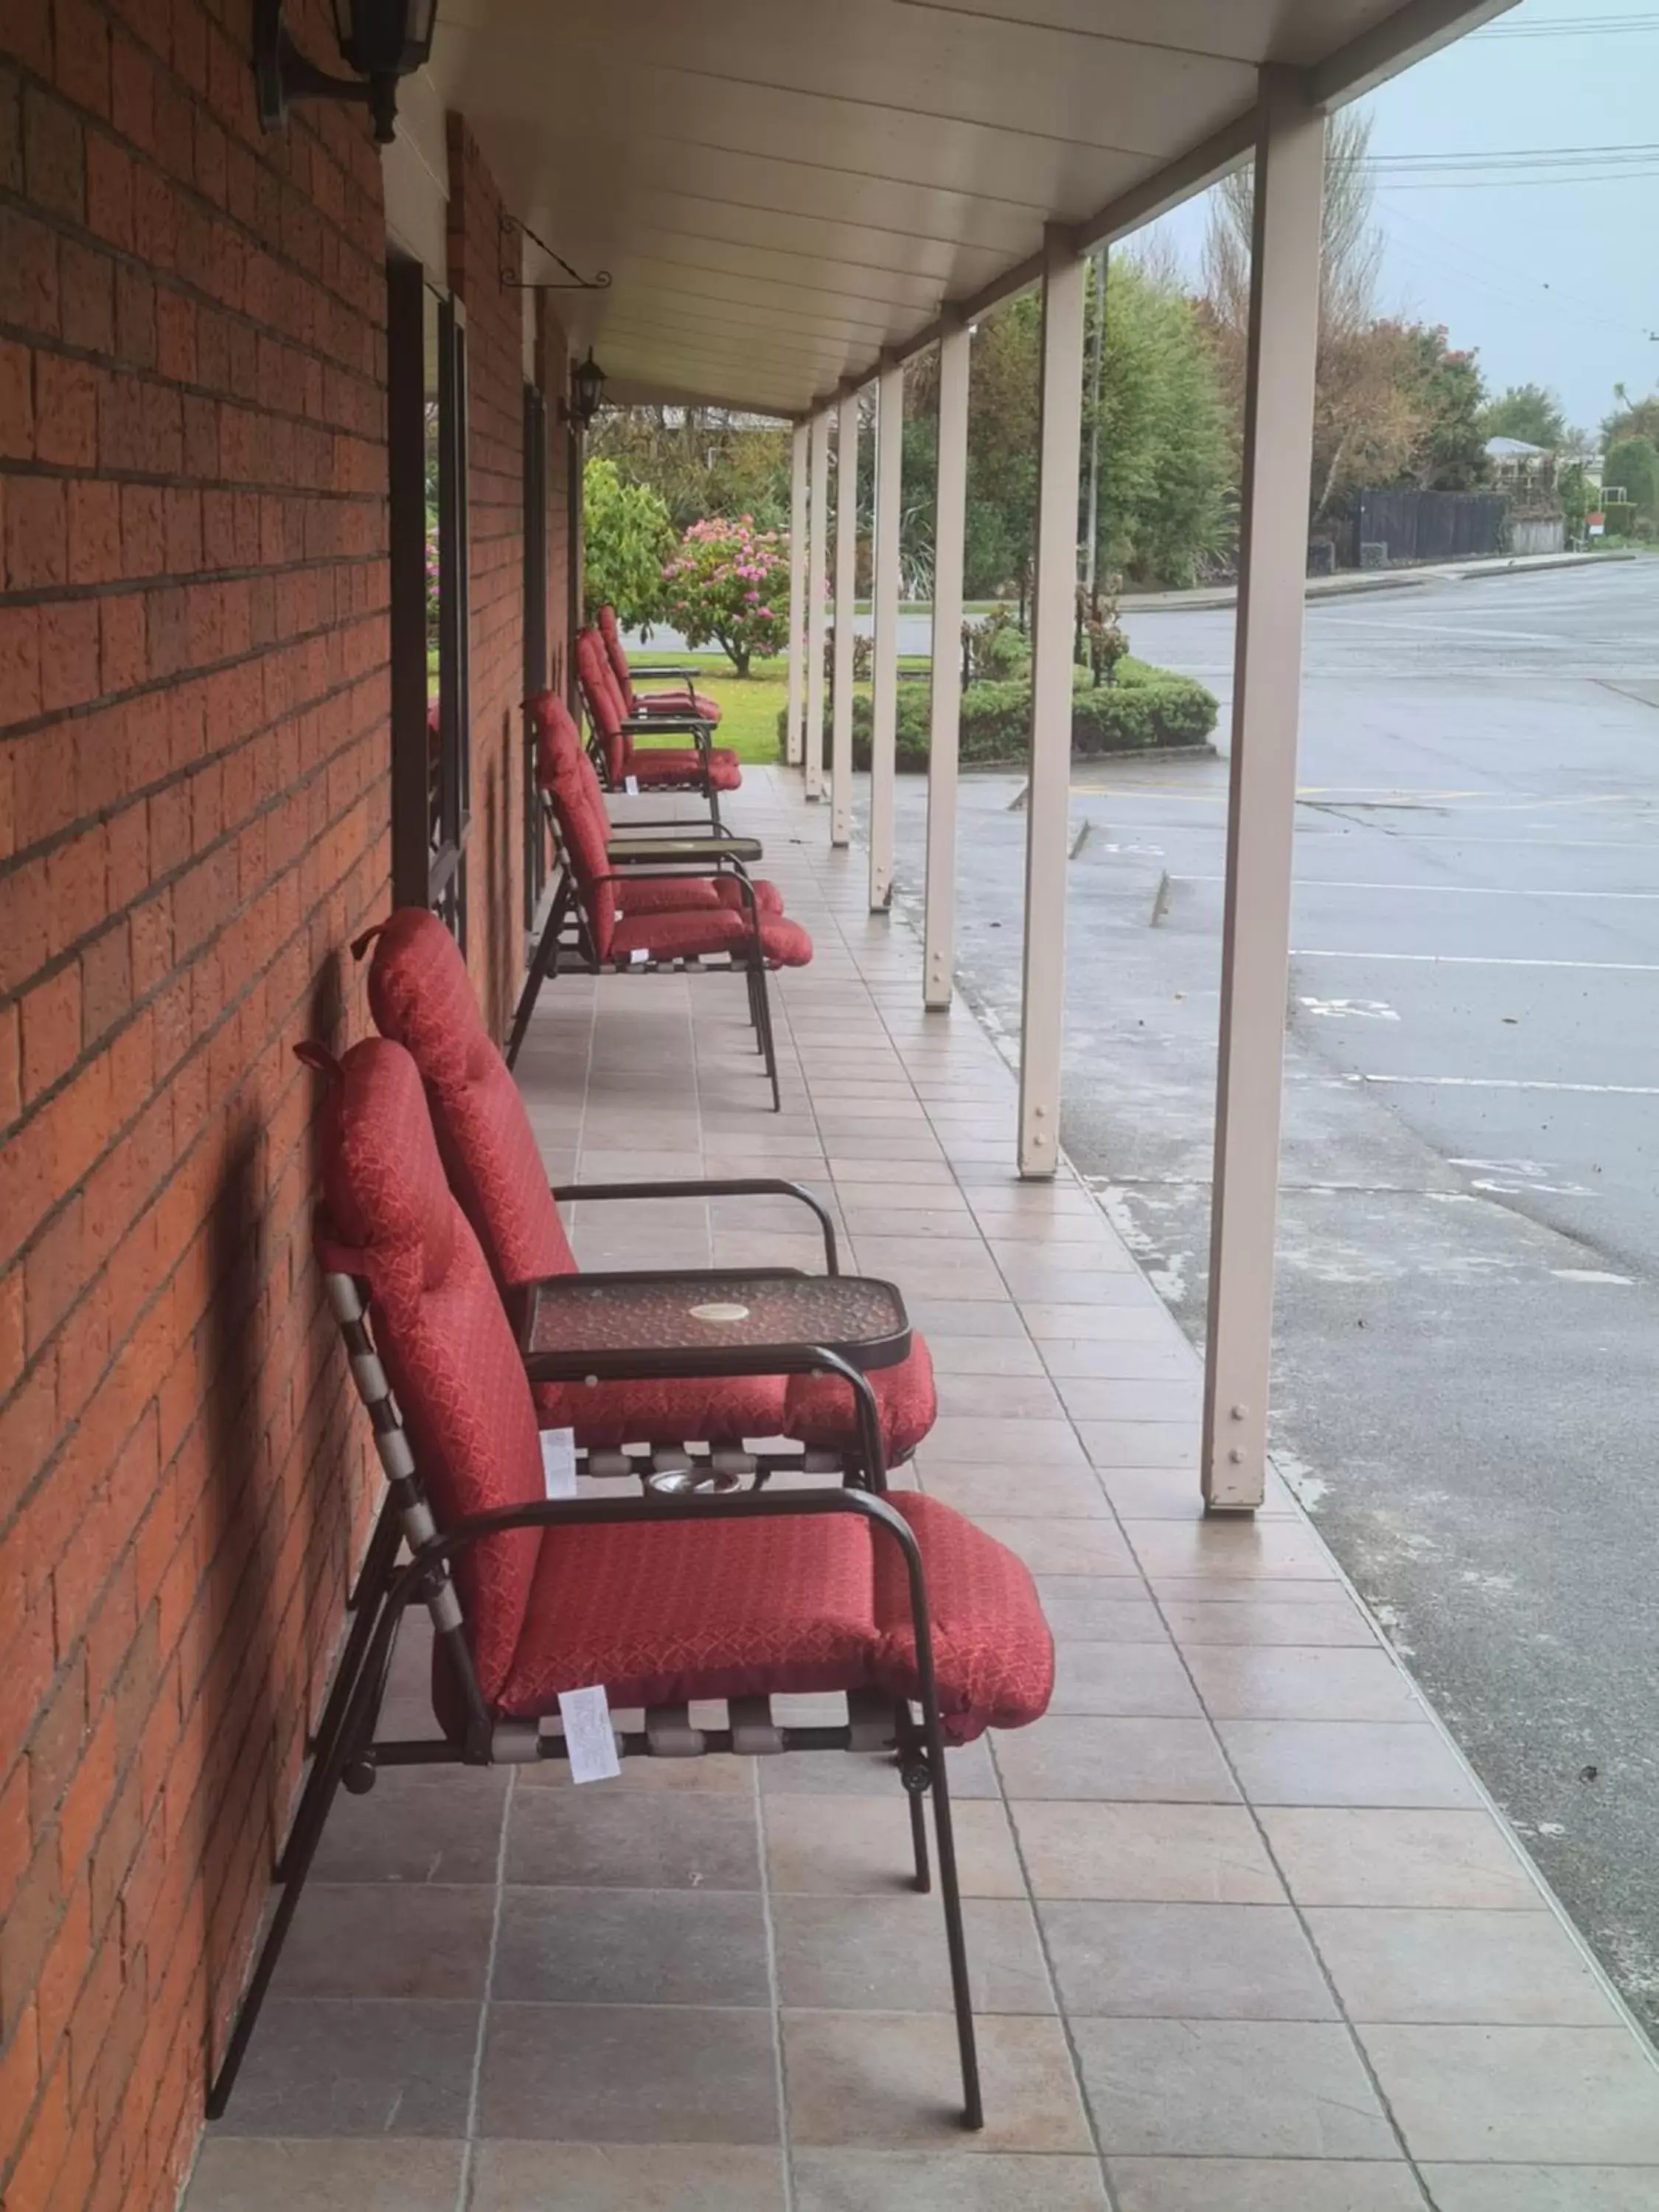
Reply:
<svg viewBox="0 0 1659 2212"><path fill-rule="evenodd" d="M761 1898L504 1889L493 1991L522 2004L765 2004Z"/></svg>

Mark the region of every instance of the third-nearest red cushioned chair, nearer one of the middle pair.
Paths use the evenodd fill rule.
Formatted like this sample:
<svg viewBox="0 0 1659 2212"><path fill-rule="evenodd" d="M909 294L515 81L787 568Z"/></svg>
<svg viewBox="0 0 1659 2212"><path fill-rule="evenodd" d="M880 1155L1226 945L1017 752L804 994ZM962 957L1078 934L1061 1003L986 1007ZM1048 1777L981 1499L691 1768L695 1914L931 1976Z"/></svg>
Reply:
<svg viewBox="0 0 1659 2212"><path fill-rule="evenodd" d="M591 781L555 774L549 803L560 834L562 874L513 1011L507 1040L509 1066L518 1060L544 980L557 975L562 964L577 964L595 975L606 967L622 973L703 967L717 973L741 971L776 1113L783 1095L765 978L770 969L805 967L812 960L812 938L783 916L783 902L770 887L763 905L757 885L721 860L699 863L697 872L613 867L611 823ZM688 909L677 902L655 911L639 909L641 889L672 885L679 887L679 898L697 874L714 883L712 905Z"/></svg>

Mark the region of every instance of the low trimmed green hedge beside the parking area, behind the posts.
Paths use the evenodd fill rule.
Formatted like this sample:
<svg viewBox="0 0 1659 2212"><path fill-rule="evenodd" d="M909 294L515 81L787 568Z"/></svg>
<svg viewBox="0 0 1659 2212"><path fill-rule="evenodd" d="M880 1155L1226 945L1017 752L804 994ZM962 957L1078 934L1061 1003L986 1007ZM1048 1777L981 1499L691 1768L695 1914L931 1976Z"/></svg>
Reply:
<svg viewBox="0 0 1659 2212"><path fill-rule="evenodd" d="M927 770L927 737L931 686L898 686L896 757L900 772ZM854 768L869 768L869 699L852 701ZM1104 752L1150 752L1157 745L1201 745L1217 721L1214 692L1192 677L1177 677L1148 661L1121 659L1115 684L1093 684L1086 668L1075 672L1071 706L1073 759ZM787 730L787 712L779 714L779 759ZM825 754L830 748L830 710L825 708ZM1031 752L1031 679L1009 684L969 684L962 692L960 759L964 765L1020 763Z"/></svg>

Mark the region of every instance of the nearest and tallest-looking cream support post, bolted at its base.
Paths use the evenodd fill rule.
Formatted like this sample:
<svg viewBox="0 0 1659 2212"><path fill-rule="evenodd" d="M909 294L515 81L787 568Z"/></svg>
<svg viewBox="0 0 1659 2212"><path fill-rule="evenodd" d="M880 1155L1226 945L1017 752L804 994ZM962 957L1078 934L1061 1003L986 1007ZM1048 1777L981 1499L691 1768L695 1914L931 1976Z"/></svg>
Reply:
<svg viewBox="0 0 1659 2212"><path fill-rule="evenodd" d="M1279 1093L1290 982L1307 478L1325 117L1261 73L1234 630L1221 1062L1203 1369L1203 1500L1248 1513L1267 1478Z"/></svg>

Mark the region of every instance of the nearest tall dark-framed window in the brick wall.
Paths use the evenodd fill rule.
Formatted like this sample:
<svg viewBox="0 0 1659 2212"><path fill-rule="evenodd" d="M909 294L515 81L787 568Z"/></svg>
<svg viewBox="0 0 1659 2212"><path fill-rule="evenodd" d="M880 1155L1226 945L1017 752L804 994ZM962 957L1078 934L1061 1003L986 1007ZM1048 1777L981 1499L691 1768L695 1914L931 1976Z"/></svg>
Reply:
<svg viewBox="0 0 1659 2212"><path fill-rule="evenodd" d="M467 942L467 325L416 261L387 270L392 896Z"/></svg>

